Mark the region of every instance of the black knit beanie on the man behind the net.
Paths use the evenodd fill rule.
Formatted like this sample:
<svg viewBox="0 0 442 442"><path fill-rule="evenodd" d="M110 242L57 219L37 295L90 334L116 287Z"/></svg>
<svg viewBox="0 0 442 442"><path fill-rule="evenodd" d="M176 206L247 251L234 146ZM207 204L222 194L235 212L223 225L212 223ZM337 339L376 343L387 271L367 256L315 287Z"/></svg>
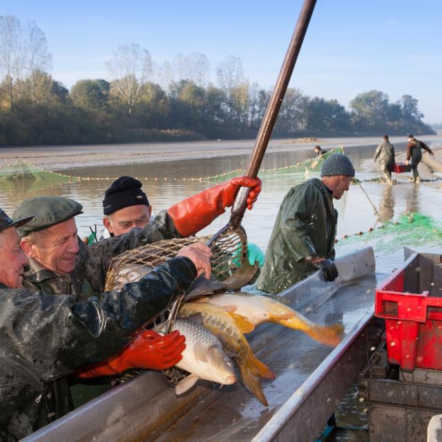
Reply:
<svg viewBox="0 0 442 442"><path fill-rule="evenodd" d="M119 177L111 187L104 193L103 212L104 215L137 204L149 205L146 193L142 188L142 182L133 177Z"/></svg>

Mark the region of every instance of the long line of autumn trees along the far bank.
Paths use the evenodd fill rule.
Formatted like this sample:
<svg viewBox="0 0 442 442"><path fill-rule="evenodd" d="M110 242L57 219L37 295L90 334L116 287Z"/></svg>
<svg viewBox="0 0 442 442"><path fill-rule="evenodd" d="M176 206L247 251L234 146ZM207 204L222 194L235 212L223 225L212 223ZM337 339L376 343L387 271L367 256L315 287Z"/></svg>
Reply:
<svg viewBox="0 0 442 442"><path fill-rule="evenodd" d="M271 90L245 77L229 56L209 81L205 55L177 55L157 66L138 44L106 62L106 79L81 79L68 90L50 75L44 32L33 21L0 17L0 145L89 144L255 137ZM370 90L347 110L336 99L287 90L279 137L434 133L418 101Z"/></svg>

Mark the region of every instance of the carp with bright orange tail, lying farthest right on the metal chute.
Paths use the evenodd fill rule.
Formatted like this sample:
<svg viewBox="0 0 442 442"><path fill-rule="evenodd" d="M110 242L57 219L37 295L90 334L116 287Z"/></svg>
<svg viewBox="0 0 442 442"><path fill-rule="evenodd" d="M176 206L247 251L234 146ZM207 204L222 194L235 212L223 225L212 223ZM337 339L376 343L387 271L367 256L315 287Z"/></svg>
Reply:
<svg viewBox="0 0 442 442"><path fill-rule="evenodd" d="M200 300L223 307L232 314L245 316L253 325L262 323L285 325L285 327L300 330L314 340L332 347L336 347L343 338L343 325L313 323L296 310L268 296L225 293L204 297Z"/></svg>

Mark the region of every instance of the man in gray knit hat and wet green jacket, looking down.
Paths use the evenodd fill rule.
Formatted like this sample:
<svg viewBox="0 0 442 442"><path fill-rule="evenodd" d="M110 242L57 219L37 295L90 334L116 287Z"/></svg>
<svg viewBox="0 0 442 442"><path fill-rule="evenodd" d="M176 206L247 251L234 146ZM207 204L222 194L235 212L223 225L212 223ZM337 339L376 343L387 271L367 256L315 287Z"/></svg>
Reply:
<svg viewBox="0 0 442 442"><path fill-rule="evenodd" d="M322 269L325 279L338 276L334 240L342 198L354 178L349 157L334 153L325 160L319 178L292 187L280 205L265 254L258 289L277 294Z"/></svg>

